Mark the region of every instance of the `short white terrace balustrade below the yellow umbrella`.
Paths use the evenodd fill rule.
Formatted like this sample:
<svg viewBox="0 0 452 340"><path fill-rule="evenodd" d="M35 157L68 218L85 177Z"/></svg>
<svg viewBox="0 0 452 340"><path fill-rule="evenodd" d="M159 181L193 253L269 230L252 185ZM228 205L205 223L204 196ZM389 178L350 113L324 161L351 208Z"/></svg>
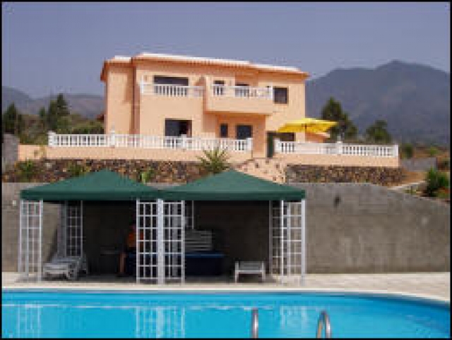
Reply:
<svg viewBox="0 0 452 340"><path fill-rule="evenodd" d="M275 152L283 154L343 154L347 156L398 157L398 145L361 145L275 140Z"/></svg>

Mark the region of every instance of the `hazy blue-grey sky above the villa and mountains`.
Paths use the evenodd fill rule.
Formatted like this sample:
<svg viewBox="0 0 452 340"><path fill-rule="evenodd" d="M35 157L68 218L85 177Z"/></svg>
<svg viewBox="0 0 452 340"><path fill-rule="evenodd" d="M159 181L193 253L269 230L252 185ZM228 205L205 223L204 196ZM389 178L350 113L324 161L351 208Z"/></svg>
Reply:
<svg viewBox="0 0 452 340"><path fill-rule="evenodd" d="M439 3L2 3L3 85L100 95L102 62L143 51L296 66L324 75L394 59L450 72Z"/></svg>

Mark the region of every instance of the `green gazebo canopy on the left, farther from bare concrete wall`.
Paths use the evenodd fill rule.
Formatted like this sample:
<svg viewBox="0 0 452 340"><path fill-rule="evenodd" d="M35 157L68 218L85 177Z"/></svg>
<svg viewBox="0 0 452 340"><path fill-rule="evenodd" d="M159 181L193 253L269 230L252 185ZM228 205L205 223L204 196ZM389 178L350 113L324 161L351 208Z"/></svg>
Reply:
<svg viewBox="0 0 452 340"><path fill-rule="evenodd" d="M23 200L155 200L159 190L109 170L20 191Z"/></svg>

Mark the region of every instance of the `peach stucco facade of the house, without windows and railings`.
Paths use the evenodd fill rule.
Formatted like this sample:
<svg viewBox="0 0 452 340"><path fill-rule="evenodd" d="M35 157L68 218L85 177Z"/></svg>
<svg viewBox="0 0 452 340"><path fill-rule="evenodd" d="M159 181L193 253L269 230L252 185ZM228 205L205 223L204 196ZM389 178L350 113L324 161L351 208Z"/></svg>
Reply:
<svg viewBox="0 0 452 340"><path fill-rule="evenodd" d="M155 60L111 65L106 75L107 132L114 126L117 133L162 136L165 135L165 119L181 119L191 121L192 136L213 138L218 136L220 116L223 120L225 116L230 116L234 124L252 121L254 152L262 156L266 150L266 131L275 131L287 121L301 119L305 115L305 75ZM204 95L142 95L138 85L140 80L152 83L154 75L188 78L190 86L204 87ZM270 99L261 98L214 97L210 85L215 80L223 80L226 86L248 83L256 87L287 87L288 103L276 104ZM253 116L256 118L252 119ZM235 137L231 135L231 138Z"/></svg>

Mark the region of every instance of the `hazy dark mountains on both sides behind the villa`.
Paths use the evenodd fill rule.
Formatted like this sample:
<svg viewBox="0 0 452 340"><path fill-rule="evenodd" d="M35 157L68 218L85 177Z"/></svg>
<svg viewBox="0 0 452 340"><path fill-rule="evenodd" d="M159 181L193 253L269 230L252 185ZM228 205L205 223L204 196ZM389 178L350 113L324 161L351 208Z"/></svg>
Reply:
<svg viewBox="0 0 452 340"><path fill-rule="evenodd" d="M391 61L376 68L338 68L308 80L307 116L320 117L330 97L364 134L377 119L388 123L398 141L434 142L448 145L451 121L450 73L415 63ZM56 96L31 98L12 87L1 87L1 109L14 102L20 111L37 114ZM93 119L104 111L104 99L98 95L64 93L71 111Z"/></svg>

